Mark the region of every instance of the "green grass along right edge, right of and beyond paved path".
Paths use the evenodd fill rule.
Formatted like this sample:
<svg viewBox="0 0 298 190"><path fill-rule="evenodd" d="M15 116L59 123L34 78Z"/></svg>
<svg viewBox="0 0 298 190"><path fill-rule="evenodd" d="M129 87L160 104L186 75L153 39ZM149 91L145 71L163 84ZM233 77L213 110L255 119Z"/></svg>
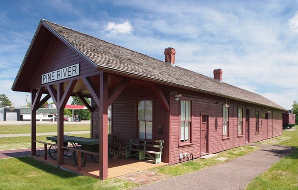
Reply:
<svg viewBox="0 0 298 190"><path fill-rule="evenodd" d="M246 190L298 190L298 126L294 129L297 130L284 130L281 137L263 141L267 144L292 146L295 149L252 180Z"/></svg>

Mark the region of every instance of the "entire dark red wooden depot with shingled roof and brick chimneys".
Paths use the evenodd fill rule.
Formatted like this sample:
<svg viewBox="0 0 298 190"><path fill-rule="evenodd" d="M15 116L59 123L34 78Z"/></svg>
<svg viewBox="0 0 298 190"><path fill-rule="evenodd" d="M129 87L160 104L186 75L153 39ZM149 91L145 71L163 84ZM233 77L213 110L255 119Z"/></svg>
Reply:
<svg viewBox="0 0 298 190"><path fill-rule="evenodd" d="M58 121L58 159L63 157L63 110L71 95L91 112L91 138L99 134L100 178L107 178L108 124L122 141L164 140L162 161L175 164L248 142L282 135L283 107L271 100L165 61L41 20L12 86L31 93L31 115L50 97ZM31 154L36 155L36 118L31 118Z"/></svg>

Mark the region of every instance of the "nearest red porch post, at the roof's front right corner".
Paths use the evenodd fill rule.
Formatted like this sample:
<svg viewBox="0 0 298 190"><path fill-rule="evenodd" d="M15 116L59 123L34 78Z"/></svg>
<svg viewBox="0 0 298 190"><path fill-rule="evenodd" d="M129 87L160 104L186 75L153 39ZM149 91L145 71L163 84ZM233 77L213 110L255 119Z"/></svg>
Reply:
<svg viewBox="0 0 298 190"><path fill-rule="evenodd" d="M99 177L108 177L108 75L100 73L99 90Z"/></svg>

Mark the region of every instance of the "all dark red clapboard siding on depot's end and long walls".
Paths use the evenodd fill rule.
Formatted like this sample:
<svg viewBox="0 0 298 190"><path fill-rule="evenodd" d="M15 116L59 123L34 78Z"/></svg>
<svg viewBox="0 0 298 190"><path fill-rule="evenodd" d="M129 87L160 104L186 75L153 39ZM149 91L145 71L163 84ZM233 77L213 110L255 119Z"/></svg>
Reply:
<svg viewBox="0 0 298 190"><path fill-rule="evenodd" d="M137 101L141 99L153 99L153 138L165 140L162 161L175 164L188 160L187 157L180 159L179 154L192 154L193 158L199 158L201 153L201 118L208 116L208 137L207 154L217 153L230 148L245 144L246 136L246 110L249 110L249 142L257 142L266 138L262 128L262 114L265 112L260 106L227 99L229 105L228 138L223 138L223 116L222 105L225 103L220 97L194 93L190 91L177 90L177 94L182 94L181 99L191 100L191 138L189 143L180 143L179 134L179 104L174 95L173 89L158 86L166 98L169 100L170 111L166 113L160 100L155 96L149 85L143 88L134 88L134 83L130 84L112 104L112 134L119 136L122 141L138 137L137 121ZM220 102L219 102L220 101ZM218 102L218 103L217 103ZM243 135L238 135L238 107L243 109ZM259 133L256 133L255 111L259 110ZM267 113L267 111L266 111ZM92 115L92 130L96 129L96 116L98 110L95 109ZM169 117L169 121L167 121ZM157 134L157 125L163 126L162 135ZM273 110L268 113L267 138L282 134L282 111ZM265 131L265 130L264 130ZM168 133L169 134L168 134ZM167 138L169 135L169 138ZM167 141L168 140L168 141ZM183 154L184 155L184 154Z"/></svg>

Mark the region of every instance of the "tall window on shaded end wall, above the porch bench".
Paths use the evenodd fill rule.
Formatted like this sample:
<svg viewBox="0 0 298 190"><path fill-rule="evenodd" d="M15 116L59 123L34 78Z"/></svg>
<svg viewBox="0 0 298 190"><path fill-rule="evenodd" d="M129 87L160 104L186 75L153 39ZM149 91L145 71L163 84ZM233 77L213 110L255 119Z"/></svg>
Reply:
<svg viewBox="0 0 298 190"><path fill-rule="evenodd" d="M152 139L153 121L152 121L152 100L138 101L138 123L139 123L139 138Z"/></svg>

